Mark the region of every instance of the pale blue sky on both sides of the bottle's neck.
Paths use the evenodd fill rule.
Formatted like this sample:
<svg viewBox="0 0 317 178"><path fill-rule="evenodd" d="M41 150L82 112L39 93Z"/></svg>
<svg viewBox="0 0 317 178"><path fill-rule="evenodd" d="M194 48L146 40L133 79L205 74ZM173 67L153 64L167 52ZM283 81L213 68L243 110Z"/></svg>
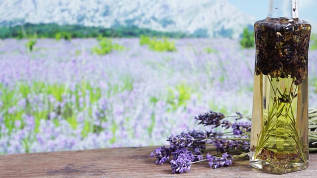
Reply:
<svg viewBox="0 0 317 178"><path fill-rule="evenodd" d="M256 20L264 19L268 12L269 0L227 0L241 11L248 13ZM299 18L308 21L312 30L317 32L317 0L298 0Z"/></svg>

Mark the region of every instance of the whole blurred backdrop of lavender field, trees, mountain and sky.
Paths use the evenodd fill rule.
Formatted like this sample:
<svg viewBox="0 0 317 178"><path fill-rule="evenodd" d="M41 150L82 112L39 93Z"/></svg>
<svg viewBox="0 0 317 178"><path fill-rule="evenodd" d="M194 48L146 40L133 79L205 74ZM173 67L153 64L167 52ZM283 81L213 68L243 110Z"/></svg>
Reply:
<svg viewBox="0 0 317 178"><path fill-rule="evenodd" d="M317 107L316 0L309 105ZM268 0L0 0L0 154L166 144L251 114Z"/></svg>

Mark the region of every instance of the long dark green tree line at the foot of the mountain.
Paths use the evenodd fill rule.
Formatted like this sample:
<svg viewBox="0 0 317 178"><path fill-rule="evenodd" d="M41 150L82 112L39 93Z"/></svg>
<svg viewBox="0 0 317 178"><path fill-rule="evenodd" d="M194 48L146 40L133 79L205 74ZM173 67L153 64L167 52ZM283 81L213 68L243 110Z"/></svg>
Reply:
<svg viewBox="0 0 317 178"><path fill-rule="evenodd" d="M159 32L155 30L137 28L137 27L85 27L81 25L58 25L50 24L31 24L26 23L23 26L0 27L0 39L5 38L28 38L24 34L37 33L39 38L55 38L57 41L66 38L97 38L102 37L139 37L146 35L149 37L168 37L168 38L188 38L192 37L180 32Z"/></svg>

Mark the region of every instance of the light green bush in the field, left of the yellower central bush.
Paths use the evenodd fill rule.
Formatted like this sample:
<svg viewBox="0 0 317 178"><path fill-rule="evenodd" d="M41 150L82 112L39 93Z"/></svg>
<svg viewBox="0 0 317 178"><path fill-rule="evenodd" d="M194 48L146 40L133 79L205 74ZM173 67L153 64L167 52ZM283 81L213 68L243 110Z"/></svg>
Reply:
<svg viewBox="0 0 317 178"><path fill-rule="evenodd" d="M99 46L95 46L92 48L93 53L96 53L98 55L105 55L113 50L123 50L124 46L112 43L111 39L102 38L99 42Z"/></svg>

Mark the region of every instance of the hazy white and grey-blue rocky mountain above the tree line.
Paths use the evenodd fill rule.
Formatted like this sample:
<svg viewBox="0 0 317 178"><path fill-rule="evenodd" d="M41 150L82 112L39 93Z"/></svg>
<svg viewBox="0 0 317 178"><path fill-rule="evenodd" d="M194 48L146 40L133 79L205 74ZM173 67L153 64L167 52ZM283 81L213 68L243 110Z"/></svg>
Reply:
<svg viewBox="0 0 317 178"><path fill-rule="evenodd" d="M226 0L0 0L0 26L27 22L137 26L238 38L254 21Z"/></svg>

